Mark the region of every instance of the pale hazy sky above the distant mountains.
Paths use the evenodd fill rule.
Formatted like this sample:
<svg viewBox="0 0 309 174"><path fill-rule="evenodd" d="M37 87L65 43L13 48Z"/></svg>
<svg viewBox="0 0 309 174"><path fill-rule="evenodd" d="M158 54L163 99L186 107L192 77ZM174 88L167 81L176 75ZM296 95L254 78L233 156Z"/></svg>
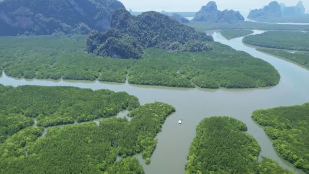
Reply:
<svg viewBox="0 0 309 174"><path fill-rule="evenodd" d="M209 1L203 0L118 0L126 8L133 11L184 11L197 12ZM268 5L271 0L217 0L215 1L219 10L233 9L239 10L243 15L247 15L250 9L262 8ZM279 3L285 3L287 6L294 6L298 0L280 0ZM302 1L306 11L309 10L309 0Z"/></svg>

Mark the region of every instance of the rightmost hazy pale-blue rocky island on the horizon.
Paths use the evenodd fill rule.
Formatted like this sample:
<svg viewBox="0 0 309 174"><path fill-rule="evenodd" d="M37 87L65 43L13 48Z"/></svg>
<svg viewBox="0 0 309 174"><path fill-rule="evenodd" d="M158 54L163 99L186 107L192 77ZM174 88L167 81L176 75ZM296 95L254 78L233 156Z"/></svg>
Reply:
<svg viewBox="0 0 309 174"><path fill-rule="evenodd" d="M261 22L308 22L309 15L304 13L305 8L301 1L291 7L273 1L262 9L252 10L248 18Z"/></svg>

